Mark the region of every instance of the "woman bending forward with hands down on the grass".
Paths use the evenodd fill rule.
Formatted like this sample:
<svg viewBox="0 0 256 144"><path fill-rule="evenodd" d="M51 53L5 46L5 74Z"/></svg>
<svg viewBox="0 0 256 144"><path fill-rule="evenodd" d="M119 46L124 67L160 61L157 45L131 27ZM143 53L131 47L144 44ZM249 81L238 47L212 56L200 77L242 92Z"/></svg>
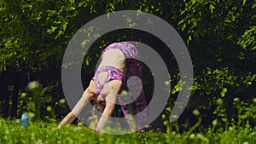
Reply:
<svg viewBox="0 0 256 144"><path fill-rule="evenodd" d="M134 95L131 96L137 96L136 94L138 94L133 108L128 107L127 102L122 96L119 96L122 90L128 89L127 78L131 78L131 76L142 78L142 66L137 60L139 55L134 45L128 42L112 43L103 50L101 58L102 62L91 79L88 88L84 90L84 94L76 106L73 107L73 110L63 118L61 124L58 125L58 129L72 123L85 105L92 100L95 100L95 109L102 112L102 117L96 121L96 130L102 130L106 126L108 117L113 113L116 99L121 104L125 117L137 114L146 108L147 103L142 88L132 89L131 94ZM137 86L136 84L133 83L135 85L133 88ZM143 129L146 124L146 117L144 111L141 117L137 117L137 124L132 123L131 119L127 118L130 129L133 131Z"/></svg>

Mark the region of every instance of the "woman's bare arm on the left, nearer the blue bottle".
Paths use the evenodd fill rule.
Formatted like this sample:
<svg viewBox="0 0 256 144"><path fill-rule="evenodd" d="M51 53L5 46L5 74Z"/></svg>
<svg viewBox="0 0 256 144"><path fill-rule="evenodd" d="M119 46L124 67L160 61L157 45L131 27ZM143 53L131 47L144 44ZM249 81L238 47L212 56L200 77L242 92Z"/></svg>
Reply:
<svg viewBox="0 0 256 144"><path fill-rule="evenodd" d="M84 90L84 93L73 110L67 114L65 118L58 125L57 129L61 129L63 126L70 124L79 115L79 113L84 109L87 103L90 101L93 94L88 92L88 89Z"/></svg>

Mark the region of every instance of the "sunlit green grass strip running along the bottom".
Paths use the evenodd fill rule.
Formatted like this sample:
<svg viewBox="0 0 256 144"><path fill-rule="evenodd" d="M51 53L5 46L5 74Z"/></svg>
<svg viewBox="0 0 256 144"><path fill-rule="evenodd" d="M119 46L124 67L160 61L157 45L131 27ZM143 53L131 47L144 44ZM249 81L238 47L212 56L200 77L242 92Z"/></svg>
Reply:
<svg viewBox="0 0 256 144"><path fill-rule="evenodd" d="M90 144L127 144L127 143L256 143L256 128L223 130L205 134L175 132L142 132L129 135L103 135L90 130L83 124L70 125L62 130L55 130L57 124L45 122L31 123L30 126L20 127L20 121L0 118L0 143L90 143Z"/></svg>

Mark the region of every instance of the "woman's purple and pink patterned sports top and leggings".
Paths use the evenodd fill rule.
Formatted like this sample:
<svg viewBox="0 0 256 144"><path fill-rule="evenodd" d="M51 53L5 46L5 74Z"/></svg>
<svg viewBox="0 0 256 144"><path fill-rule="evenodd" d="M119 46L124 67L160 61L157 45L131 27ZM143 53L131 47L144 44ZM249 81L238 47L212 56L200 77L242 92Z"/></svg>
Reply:
<svg viewBox="0 0 256 144"><path fill-rule="evenodd" d="M97 87L97 91L96 91L96 97L98 95L102 95L103 98L106 97L106 95L102 94L102 88L104 87L105 84L107 84L109 81L115 79L115 80L119 80L122 82L122 90L127 90L127 79L130 78L131 76L137 76L138 78L140 78L142 80L143 77L143 68L141 66L140 61L138 60L139 58L139 54L137 49L135 48L134 45L132 45L131 43L128 42L119 42L119 43L112 43L110 45L108 45L108 47L106 49L103 50L102 55L104 54L104 52L106 52L108 49L119 49L123 52L123 54L125 55L125 66L126 66L126 75L124 76L124 73L121 72L118 68L114 67L114 66L102 66L101 68L99 68L96 73L95 76L92 78L93 81L96 84ZM100 84L100 82L98 81L98 74L100 72L108 72L108 77L105 79L105 81L103 82L103 84ZM132 91L131 91L131 95L129 96L137 96L137 95L132 95L132 94L139 94L137 96L137 99L135 100L135 104L132 105L132 108L128 107L127 102L125 102L125 99L123 98L122 95L118 96L119 99L119 103L121 104L120 107L122 109L122 111L124 112L124 115L135 115L138 112L142 112L146 107L147 107L147 102L146 99L144 97L144 93L143 93L143 87L138 88L137 87L137 83L135 81L132 81L132 77L131 77L131 83L129 84L130 86L132 86ZM130 87L129 86L129 87ZM137 88L137 89L135 89ZM128 91L128 90L127 90ZM130 93L130 91L129 91ZM125 95L128 96L128 95ZM131 119L126 118L127 122L130 126L130 128L132 128L132 124L131 124ZM136 121L137 121L137 130L141 130L147 121L147 113L146 111L143 112L142 115L140 115L140 117L136 117Z"/></svg>

